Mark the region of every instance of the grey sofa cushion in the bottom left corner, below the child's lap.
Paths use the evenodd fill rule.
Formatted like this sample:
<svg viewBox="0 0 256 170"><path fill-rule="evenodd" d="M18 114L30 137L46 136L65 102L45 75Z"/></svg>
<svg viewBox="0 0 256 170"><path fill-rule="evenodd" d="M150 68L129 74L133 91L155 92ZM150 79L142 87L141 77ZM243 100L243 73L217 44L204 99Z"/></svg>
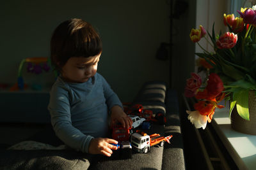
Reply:
<svg viewBox="0 0 256 170"><path fill-rule="evenodd" d="M1 150L0 169L88 169L90 155L71 150Z"/></svg>

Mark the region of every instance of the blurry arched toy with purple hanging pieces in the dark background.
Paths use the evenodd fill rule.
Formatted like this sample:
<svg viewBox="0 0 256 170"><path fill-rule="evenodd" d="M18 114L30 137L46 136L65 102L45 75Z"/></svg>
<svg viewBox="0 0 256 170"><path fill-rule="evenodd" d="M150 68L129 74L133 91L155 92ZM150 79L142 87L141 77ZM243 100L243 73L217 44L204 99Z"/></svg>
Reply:
<svg viewBox="0 0 256 170"><path fill-rule="evenodd" d="M27 64L27 71L28 73L35 73L35 74L41 74L43 71L48 72L51 69L51 63L48 57L30 57L26 59L22 59L19 65L19 71L18 71L18 80L13 87L10 88L10 91L18 91L18 90L24 90L28 85L24 83L23 77L22 77L22 69L24 67L24 64ZM56 74L56 73L55 73ZM42 90L42 85L34 84L32 85L33 90Z"/></svg>

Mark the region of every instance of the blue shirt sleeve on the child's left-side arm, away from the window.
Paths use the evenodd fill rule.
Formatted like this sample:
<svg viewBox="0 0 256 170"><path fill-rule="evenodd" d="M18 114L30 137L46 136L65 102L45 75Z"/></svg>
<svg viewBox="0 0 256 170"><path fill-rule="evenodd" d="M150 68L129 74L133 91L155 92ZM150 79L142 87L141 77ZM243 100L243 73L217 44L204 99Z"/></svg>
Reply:
<svg viewBox="0 0 256 170"><path fill-rule="evenodd" d="M50 95L48 110L51 114L51 123L56 136L70 148L88 153L93 137L86 136L72 125L68 90L54 86Z"/></svg>

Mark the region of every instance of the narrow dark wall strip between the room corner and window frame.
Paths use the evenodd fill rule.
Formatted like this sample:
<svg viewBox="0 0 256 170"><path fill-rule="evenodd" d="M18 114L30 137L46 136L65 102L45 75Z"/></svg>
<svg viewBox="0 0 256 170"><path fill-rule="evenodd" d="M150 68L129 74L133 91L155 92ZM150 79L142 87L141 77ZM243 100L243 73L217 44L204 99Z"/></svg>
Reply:
<svg viewBox="0 0 256 170"><path fill-rule="evenodd" d="M196 0L186 2L187 10L179 18L173 18L172 32L172 87L178 91L180 98L184 92L186 79L195 71L195 43L191 42L189 33L196 24ZM175 11L175 6L173 9Z"/></svg>

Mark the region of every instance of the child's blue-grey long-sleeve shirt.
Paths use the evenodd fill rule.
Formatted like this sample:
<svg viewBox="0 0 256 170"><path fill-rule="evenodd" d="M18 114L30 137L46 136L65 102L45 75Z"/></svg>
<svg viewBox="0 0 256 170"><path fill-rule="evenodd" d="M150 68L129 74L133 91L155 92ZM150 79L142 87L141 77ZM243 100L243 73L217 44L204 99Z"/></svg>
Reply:
<svg viewBox="0 0 256 170"><path fill-rule="evenodd" d="M108 110L122 103L99 74L84 83L67 83L58 77L50 92L48 109L52 127L67 146L87 152L92 138L108 134Z"/></svg>

